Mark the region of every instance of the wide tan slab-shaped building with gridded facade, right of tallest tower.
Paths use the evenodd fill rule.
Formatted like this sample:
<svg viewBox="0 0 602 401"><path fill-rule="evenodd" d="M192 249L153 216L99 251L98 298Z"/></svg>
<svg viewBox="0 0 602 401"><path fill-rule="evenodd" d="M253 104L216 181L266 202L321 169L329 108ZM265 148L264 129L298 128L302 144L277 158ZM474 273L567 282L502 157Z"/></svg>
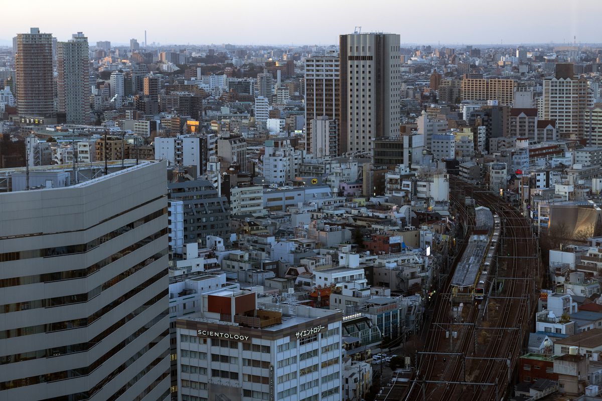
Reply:
<svg viewBox="0 0 602 401"><path fill-rule="evenodd" d="M499 105L512 105L517 82L514 79L462 79L462 100L497 100Z"/></svg>

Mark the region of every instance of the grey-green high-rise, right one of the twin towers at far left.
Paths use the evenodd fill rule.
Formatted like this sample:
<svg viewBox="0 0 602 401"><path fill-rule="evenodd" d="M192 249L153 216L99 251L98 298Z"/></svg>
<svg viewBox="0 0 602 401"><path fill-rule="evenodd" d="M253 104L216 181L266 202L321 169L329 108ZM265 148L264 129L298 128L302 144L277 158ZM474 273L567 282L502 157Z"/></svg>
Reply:
<svg viewBox="0 0 602 401"><path fill-rule="evenodd" d="M64 113L69 124L90 122L90 78L88 38L78 32L71 40L59 42L58 112Z"/></svg>

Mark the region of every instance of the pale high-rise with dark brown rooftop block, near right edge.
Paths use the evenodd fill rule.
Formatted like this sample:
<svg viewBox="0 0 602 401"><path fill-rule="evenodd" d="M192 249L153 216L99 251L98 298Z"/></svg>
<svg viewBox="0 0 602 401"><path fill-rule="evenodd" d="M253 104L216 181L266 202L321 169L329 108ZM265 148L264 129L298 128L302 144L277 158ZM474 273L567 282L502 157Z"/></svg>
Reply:
<svg viewBox="0 0 602 401"><path fill-rule="evenodd" d="M588 81L574 75L573 64L556 64L553 77L544 79L541 119L556 121L556 129L563 133L576 133L583 138L586 109L591 108L594 97Z"/></svg>

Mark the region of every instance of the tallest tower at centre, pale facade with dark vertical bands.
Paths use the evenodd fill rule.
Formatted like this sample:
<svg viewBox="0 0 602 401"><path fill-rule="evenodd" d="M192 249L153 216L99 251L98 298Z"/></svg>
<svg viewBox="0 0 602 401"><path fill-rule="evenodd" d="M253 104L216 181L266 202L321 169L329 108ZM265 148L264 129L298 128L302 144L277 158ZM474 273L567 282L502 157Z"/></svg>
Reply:
<svg viewBox="0 0 602 401"><path fill-rule="evenodd" d="M340 35L339 154L371 153L372 139L399 133L400 37Z"/></svg>

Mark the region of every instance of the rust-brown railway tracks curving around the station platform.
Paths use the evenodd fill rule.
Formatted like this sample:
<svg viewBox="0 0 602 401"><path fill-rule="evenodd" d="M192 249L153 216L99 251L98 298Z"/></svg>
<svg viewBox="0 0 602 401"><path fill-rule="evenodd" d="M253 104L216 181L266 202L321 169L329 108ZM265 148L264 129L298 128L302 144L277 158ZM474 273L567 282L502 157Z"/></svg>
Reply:
<svg viewBox="0 0 602 401"><path fill-rule="evenodd" d="M497 195L453 176L450 176L450 190L450 200L453 202L463 204L462 195L469 196L481 206L488 207L492 213L500 215L504 230L504 246L500 252L510 256L502 256L505 262L503 274L506 280L504 280L503 292L495 297L497 314L486 323L488 327L479 321L480 313L476 302L473 302L464 322L468 324L462 325L462 329L458 330L459 338L456 340L455 347L451 348L447 344L444 327L433 324L452 323L450 305L440 293L435 302L435 312L423 347L425 352L439 354L423 354L420 358L417 377L409 388L405 400L497 401L509 390L514 367L526 338L524 334L529 329L529 325L523 323L530 322L536 301L534 286L537 284L534 280L530 280L539 277L538 260L532 258L538 254L536 244L529 221L517 209L503 203ZM460 207L458 210L467 224L474 225L471 214L465 208ZM456 263L464 248L465 243L456 255ZM450 293L453 268L444 286L441 287L444 293ZM476 338L483 331L488 332L489 341L477 347ZM446 363L442 360L445 352L449 353L449 361ZM467 377L470 379L467 380Z"/></svg>

